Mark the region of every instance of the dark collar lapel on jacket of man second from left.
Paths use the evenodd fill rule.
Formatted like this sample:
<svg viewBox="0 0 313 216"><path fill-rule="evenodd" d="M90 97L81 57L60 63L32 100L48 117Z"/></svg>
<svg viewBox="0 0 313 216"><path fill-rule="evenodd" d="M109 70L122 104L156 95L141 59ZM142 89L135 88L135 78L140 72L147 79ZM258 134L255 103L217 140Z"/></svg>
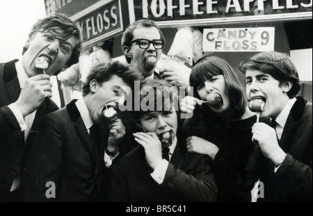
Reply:
<svg viewBox="0 0 313 216"><path fill-rule="evenodd" d="M77 134L79 134L79 137L81 138L81 141L83 142L83 145L85 146L86 150L90 154L90 157L92 158L92 160L95 160L94 153L93 153L93 142L89 137L85 124L83 123L83 118L81 118L81 114L79 113L79 110L77 109L75 105L76 101L77 100L72 100L72 102L70 102L66 106L66 109L72 121L75 122L75 128L77 130Z"/></svg>

